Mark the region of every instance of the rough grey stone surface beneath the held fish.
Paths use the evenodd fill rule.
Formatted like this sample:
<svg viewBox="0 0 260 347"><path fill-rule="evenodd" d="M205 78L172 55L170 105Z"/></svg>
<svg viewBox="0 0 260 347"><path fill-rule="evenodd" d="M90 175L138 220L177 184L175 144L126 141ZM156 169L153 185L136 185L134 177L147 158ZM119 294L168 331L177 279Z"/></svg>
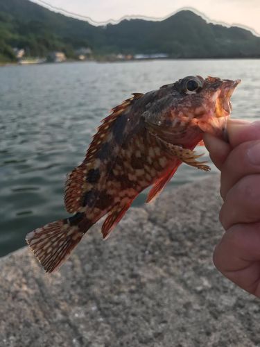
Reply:
<svg viewBox="0 0 260 347"><path fill-rule="evenodd" d="M94 226L46 275L28 248L0 260L0 346L260 346L260 305L218 273L218 176Z"/></svg>

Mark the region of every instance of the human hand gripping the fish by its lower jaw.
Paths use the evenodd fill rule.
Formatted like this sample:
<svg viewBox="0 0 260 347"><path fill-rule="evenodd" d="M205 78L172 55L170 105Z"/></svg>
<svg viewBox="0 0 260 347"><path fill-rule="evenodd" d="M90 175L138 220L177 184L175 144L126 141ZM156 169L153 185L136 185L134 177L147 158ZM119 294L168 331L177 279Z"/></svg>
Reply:
<svg viewBox="0 0 260 347"><path fill-rule="evenodd" d="M225 229L216 246L216 268L232 282L260 298L260 121L230 120L229 144L205 134L211 160L221 171Z"/></svg>

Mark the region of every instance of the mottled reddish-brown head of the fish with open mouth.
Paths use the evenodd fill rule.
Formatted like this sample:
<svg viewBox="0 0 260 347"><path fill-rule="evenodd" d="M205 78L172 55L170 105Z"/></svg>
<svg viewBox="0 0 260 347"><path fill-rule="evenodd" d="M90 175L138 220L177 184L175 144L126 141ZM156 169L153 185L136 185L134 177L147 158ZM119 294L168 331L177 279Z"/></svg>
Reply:
<svg viewBox="0 0 260 347"><path fill-rule="evenodd" d="M159 112L146 112L146 124L168 142L182 143L198 133L225 138L231 96L241 81L188 76L160 88ZM158 106L158 105L157 105Z"/></svg>

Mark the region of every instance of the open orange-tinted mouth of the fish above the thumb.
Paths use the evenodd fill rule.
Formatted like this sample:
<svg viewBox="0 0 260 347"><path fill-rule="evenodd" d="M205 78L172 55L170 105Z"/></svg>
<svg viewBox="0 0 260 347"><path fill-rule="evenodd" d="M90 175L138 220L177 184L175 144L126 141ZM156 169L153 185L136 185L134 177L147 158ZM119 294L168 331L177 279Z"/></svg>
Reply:
<svg viewBox="0 0 260 347"><path fill-rule="evenodd" d="M220 87L220 91L218 91L218 97L216 99L216 107L214 113L217 118L227 117L230 115L232 111L232 103L230 99L239 83L241 83L241 80L223 81L223 84Z"/></svg>

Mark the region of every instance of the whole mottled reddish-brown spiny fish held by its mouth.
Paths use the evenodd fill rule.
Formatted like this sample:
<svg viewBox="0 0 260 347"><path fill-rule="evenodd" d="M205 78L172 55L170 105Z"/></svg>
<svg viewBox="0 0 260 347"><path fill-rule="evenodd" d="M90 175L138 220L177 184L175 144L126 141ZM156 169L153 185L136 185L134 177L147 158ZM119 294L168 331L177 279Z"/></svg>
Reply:
<svg viewBox="0 0 260 347"><path fill-rule="evenodd" d="M71 217L46 224L26 242L47 273L58 269L87 230L105 216L107 239L132 201L151 186L152 201L186 163L209 171L201 154L204 133L225 138L230 98L241 80L187 76L112 108L85 159L67 177L64 205Z"/></svg>

